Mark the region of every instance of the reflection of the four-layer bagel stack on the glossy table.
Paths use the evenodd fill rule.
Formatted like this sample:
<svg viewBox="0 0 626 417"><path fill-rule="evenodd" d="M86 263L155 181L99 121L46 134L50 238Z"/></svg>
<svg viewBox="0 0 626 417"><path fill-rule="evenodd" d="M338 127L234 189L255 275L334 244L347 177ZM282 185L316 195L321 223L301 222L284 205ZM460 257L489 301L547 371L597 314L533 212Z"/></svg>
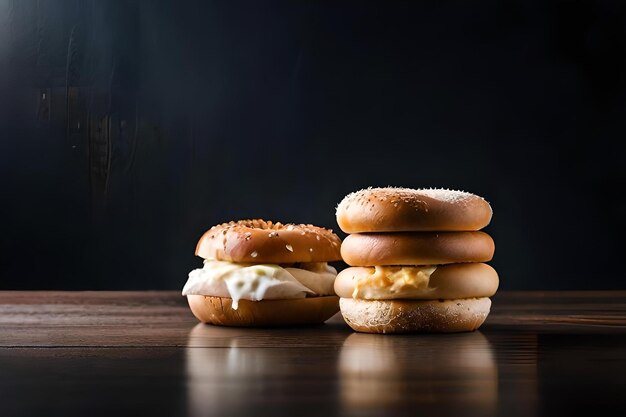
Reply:
<svg viewBox="0 0 626 417"><path fill-rule="evenodd" d="M480 332L381 336L355 333L339 358L344 411L387 412L419 406L436 414L495 415L498 369Z"/></svg>

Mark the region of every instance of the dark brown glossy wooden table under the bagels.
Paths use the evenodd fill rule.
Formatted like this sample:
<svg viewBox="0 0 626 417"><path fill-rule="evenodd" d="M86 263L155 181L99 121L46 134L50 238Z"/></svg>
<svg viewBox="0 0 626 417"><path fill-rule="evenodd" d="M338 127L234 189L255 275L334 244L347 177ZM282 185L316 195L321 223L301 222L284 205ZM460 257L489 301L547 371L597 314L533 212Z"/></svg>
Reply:
<svg viewBox="0 0 626 417"><path fill-rule="evenodd" d="M626 415L626 292L502 292L480 331L198 324L177 292L0 292L0 416Z"/></svg>

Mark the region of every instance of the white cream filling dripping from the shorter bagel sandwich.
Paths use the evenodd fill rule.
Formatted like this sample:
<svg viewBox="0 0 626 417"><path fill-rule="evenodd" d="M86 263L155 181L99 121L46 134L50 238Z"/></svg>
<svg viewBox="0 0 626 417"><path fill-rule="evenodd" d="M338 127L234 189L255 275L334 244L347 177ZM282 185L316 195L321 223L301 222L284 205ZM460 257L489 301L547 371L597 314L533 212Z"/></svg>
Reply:
<svg viewBox="0 0 626 417"><path fill-rule="evenodd" d="M243 264L206 259L189 273L183 295L206 295L239 300L280 300L334 294L337 271L325 262L283 268L274 264Z"/></svg>

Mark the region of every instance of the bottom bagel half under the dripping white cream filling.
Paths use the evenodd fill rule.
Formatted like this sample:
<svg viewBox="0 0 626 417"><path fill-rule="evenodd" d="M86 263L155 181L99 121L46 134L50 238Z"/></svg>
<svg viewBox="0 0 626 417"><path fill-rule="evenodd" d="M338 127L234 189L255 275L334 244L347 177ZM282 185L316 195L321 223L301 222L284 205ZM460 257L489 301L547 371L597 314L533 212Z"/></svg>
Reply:
<svg viewBox="0 0 626 417"><path fill-rule="evenodd" d="M203 323L220 326L264 327L321 324L339 311L339 297L320 296L290 300L239 300L188 295L192 313Z"/></svg>

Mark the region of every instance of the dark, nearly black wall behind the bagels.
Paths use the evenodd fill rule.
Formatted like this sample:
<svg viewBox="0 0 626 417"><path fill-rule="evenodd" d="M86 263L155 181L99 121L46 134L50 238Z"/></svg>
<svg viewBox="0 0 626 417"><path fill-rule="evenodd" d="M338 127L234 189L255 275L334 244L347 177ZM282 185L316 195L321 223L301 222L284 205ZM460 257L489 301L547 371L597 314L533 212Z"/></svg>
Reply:
<svg viewBox="0 0 626 417"><path fill-rule="evenodd" d="M620 1L0 0L0 289L180 289L370 185L484 196L502 289L624 288L625 57Z"/></svg>

